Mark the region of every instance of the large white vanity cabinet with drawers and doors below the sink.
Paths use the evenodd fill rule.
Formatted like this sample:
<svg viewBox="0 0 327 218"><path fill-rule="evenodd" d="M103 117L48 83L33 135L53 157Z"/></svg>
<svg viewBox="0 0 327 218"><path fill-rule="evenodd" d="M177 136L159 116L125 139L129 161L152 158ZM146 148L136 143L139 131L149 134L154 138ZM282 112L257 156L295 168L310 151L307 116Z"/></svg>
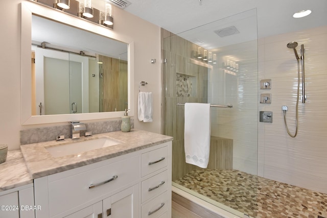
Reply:
<svg viewBox="0 0 327 218"><path fill-rule="evenodd" d="M171 146L165 142L34 180L36 218L171 217Z"/></svg>

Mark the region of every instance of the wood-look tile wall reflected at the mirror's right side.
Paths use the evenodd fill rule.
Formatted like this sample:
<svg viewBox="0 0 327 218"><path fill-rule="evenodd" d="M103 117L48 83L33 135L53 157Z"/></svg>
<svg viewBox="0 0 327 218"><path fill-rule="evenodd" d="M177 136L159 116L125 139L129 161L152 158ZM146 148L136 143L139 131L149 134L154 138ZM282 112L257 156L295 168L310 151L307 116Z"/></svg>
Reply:
<svg viewBox="0 0 327 218"><path fill-rule="evenodd" d="M99 56L103 62L100 71L100 112L124 111L128 107L127 85L128 64L127 61Z"/></svg>

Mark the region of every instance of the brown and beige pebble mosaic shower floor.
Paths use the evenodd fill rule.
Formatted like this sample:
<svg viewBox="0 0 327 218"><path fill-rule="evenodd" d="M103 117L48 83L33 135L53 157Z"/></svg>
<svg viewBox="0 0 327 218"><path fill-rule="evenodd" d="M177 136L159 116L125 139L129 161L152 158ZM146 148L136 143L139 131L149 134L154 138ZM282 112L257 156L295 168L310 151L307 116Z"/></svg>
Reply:
<svg viewBox="0 0 327 218"><path fill-rule="evenodd" d="M235 169L196 169L174 182L252 217L327 218L327 194Z"/></svg>

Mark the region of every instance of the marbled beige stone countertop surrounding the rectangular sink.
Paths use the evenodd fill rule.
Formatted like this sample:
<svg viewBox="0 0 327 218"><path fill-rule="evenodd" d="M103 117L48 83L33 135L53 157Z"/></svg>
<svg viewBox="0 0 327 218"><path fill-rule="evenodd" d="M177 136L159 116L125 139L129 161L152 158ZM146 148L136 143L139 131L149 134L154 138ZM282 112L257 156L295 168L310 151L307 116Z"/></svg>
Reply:
<svg viewBox="0 0 327 218"><path fill-rule="evenodd" d="M63 142L45 141L20 146L22 155L32 179L66 171L87 164L117 157L141 149L149 148L160 143L172 141L173 137L132 129L130 132L108 132L92 135L91 138L109 137L121 141L120 144L106 148L91 150L74 155L53 157L45 147ZM65 139L64 143L89 140L91 138Z"/></svg>

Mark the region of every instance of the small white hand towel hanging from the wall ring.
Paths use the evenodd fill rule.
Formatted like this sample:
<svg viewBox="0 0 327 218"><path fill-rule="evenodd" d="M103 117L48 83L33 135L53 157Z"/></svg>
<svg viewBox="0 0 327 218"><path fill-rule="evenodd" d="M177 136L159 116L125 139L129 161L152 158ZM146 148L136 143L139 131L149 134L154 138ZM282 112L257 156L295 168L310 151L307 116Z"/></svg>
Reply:
<svg viewBox="0 0 327 218"><path fill-rule="evenodd" d="M137 117L139 121L152 122L152 92L138 92Z"/></svg>

